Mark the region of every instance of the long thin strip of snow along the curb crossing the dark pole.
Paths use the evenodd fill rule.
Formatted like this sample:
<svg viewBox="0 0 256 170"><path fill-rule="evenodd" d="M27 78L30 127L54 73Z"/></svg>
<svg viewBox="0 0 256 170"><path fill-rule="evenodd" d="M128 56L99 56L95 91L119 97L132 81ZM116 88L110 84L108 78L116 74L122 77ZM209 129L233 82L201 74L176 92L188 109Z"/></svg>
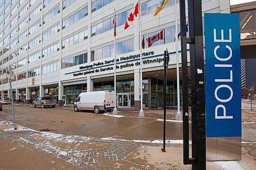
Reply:
<svg viewBox="0 0 256 170"><path fill-rule="evenodd" d="M101 140L115 140L115 141L127 141L127 142L139 142L139 143L163 143L163 140L126 140L126 139L116 139L112 137L103 137ZM183 140L165 140L165 143L169 144L182 144ZM191 143L191 141L189 141Z"/></svg>

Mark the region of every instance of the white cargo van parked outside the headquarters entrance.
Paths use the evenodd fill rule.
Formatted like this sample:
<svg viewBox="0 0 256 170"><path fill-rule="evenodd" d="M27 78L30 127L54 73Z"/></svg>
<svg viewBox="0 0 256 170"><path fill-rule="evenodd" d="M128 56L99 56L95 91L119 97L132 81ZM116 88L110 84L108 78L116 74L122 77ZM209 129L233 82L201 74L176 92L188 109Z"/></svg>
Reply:
<svg viewBox="0 0 256 170"><path fill-rule="evenodd" d="M74 111L94 110L110 111L115 108L115 92L114 91L93 91L82 92L78 95L74 103Z"/></svg>

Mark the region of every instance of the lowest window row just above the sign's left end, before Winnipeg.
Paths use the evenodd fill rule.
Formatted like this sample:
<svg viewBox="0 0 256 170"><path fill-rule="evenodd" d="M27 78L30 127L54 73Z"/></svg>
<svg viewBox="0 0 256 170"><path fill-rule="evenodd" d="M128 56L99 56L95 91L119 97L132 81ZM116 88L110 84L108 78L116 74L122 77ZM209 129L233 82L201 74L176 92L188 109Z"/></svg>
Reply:
<svg viewBox="0 0 256 170"><path fill-rule="evenodd" d="M80 54L78 56L70 57L68 59L61 61L61 68L68 68L75 65L87 63L88 55L87 53Z"/></svg>

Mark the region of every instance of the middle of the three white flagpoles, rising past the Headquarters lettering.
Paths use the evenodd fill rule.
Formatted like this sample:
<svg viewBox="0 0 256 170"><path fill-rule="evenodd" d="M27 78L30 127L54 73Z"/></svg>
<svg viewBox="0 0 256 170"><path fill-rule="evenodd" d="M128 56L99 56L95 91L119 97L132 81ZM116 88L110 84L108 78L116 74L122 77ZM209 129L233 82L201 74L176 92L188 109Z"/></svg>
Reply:
<svg viewBox="0 0 256 170"><path fill-rule="evenodd" d="M139 6L140 6L140 11L139 11L139 27L140 27L140 37L139 37L139 42L140 42L140 112L139 116L144 117L144 111L142 108L142 98L143 98L143 91L142 91L142 41L141 41L141 2L139 1Z"/></svg>

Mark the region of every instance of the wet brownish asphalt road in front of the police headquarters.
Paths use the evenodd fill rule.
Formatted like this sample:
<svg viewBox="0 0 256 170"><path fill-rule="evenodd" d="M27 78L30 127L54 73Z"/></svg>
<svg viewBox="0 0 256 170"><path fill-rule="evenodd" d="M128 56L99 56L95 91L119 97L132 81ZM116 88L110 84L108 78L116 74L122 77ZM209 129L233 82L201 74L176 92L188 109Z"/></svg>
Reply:
<svg viewBox="0 0 256 170"><path fill-rule="evenodd" d="M125 140L161 140L163 122L151 118L111 117L67 108L33 108L15 105L16 124L40 131L53 130L66 135L113 137ZM4 105L0 118L13 122L11 105ZM166 139L182 140L182 123L166 122Z"/></svg>

